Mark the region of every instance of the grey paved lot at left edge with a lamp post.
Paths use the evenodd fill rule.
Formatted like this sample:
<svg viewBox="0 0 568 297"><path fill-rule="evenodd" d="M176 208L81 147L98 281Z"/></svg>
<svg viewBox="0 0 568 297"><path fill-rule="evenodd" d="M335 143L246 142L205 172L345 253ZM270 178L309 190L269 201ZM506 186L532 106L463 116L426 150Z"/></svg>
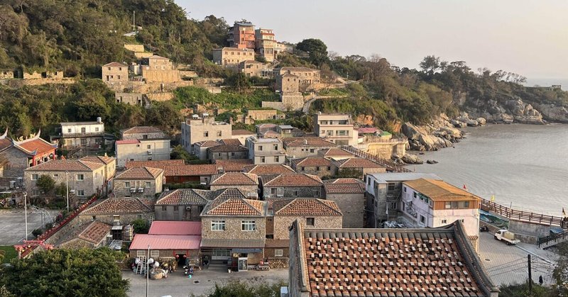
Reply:
<svg viewBox="0 0 568 297"><path fill-rule="evenodd" d="M52 216L58 211L50 211ZM23 209L15 211L0 211L0 245L16 245L25 237L26 224ZM49 218L43 216L43 224L48 223ZM42 226L41 213L34 213L28 208L28 239L33 239L31 232Z"/></svg>

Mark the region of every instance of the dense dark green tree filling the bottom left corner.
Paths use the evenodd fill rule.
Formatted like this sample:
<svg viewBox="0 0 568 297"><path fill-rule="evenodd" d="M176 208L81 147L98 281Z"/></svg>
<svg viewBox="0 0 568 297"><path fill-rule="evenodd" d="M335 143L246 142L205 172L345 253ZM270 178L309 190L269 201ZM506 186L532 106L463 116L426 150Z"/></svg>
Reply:
<svg viewBox="0 0 568 297"><path fill-rule="evenodd" d="M16 296L126 296L129 281L122 279L118 259L124 254L106 247L40 251L14 259L0 285Z"/></svg>

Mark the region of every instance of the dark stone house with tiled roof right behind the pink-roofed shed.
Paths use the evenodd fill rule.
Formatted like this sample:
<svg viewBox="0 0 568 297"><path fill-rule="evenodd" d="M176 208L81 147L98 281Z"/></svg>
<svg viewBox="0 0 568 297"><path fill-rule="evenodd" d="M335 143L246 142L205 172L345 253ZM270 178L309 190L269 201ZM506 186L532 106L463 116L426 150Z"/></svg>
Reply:
<svg viewBox="0 0 568 297"><path fill-rule="evenodd" d="M208 190L165 191L154 204L155 219L200 221L203 208L213 198L213 192Z"/></svg>

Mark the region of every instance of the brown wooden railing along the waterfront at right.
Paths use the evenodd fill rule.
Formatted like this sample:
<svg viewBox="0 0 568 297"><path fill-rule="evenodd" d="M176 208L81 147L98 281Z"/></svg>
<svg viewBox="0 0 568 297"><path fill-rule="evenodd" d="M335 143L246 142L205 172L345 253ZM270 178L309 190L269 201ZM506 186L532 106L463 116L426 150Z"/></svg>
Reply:
<svg viewBox="0 0 568 297"><path fill-rule="evenodd" d="M538 223L541 225L562 226L562 218L553 215L543 215L542 213L532 213L530 211L518 211L516 209L502 206L501 204L481 198L481 209L491 211L511 220L521 220L523 222Z"/></svg>

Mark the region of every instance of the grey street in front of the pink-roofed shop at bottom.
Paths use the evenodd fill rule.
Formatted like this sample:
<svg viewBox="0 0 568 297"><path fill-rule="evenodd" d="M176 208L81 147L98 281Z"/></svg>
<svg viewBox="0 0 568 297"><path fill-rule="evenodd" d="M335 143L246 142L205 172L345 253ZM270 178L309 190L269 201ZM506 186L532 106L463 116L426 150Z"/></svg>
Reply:
<svg viewBox="0 0 568 297"><path fill-rule="evenodd" d="M132 271L122 271L123 279L130 279L129 296L138 297L146 296L146 279L140 274L134 274ZM271 269L270 271L246 271L227 273L225 269L205 269L196 271L191 279L183 275L183 271L176 271L168 275L167 279L156 279L149 281L148 296L172 296L187 297L201 296L205 293L212 292L215 282L223 283L232 279L241 279L242 281L266 281L267 283L275 283L284 281L288 284L288 269Z"/></svg>

